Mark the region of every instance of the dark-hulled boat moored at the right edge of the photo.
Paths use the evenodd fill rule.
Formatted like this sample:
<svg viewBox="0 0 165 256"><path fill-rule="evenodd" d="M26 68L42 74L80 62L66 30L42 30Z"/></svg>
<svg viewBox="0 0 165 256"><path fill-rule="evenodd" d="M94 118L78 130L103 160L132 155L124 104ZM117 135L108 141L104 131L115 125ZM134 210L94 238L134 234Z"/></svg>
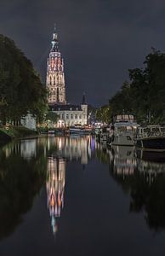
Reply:
<svg viewBox="0 0 165 256"><path fill-rule="evenodd" d="M165 151L165 127L162 125L138 127L135 146L148 151Z"/></svg>

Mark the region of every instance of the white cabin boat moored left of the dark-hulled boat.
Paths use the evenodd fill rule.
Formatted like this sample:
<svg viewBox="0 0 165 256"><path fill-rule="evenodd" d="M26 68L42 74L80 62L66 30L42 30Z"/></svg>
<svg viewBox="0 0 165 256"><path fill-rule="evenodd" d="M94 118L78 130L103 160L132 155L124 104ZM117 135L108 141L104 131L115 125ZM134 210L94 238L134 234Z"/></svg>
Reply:
<svg viewBox="0 0 165 256"><path fill-rule="evenodd" d="M133 114L117 114L111 125L111 145L134 146L138 127Z"/></svg>

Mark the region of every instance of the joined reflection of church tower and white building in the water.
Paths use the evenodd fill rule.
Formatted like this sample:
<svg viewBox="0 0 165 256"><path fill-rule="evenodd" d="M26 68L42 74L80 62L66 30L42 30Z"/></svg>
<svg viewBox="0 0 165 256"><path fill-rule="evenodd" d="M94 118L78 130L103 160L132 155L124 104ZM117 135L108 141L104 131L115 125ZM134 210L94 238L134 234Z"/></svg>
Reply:
<svg viewBox="0 0 165 256"><path fill-rule="evenodd" d="M58 231L58 218L64 207L65 193L65 165L66 160L80 160L87 165L92 157L91 145L95 148L92 137L53 137L48 138L48 150L55 148L54 153L48 157L47 169L47 198L51 226L54 235ZM53 146L53 147L52 147ZM57 149L56 149L57 148ZM51 150L52 152L52 150Z"/></svg>

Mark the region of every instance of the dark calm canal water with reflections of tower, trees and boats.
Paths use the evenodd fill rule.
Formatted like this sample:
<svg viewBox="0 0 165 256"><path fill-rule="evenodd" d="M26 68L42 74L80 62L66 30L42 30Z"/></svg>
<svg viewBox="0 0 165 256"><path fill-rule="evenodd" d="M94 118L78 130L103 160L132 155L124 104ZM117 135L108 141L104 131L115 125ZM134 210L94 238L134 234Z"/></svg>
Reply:
<svg viewBox="0 0 165 256"><path fill-rule="evenodd" d="M164 155L94 137L1 145L1 256L164 253Z"/></svg>

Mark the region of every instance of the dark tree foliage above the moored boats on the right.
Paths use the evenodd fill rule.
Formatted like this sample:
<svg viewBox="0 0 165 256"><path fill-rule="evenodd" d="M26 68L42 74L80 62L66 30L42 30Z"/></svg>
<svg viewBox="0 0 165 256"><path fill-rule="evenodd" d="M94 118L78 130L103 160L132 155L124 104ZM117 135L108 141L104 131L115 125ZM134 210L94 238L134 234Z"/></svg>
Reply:
<svg viewBox="0 0 165 256"><path fill-rule="evenodd" d="M129 82L110 100L113 113L135 113L140 122L165 122L165 54L152 49L143 68L129 69Z"/></svg>

